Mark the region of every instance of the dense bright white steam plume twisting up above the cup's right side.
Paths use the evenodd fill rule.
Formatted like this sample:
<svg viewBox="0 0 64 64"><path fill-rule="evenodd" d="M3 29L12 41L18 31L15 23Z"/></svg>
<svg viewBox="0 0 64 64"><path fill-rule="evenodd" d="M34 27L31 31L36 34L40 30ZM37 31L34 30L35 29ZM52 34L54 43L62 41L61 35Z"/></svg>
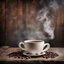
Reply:
<svg viewBox="0 0 64 64"><path fill-rule="evenodd" d="M52 18L50 16L48 17L47 16L48 14L49 14L48 8L43 8L38 12L36 20L42 23L44 27L43 30L50 36L48 37L48 39L53 39L54 38L54 27L52 27Z"/></svg>

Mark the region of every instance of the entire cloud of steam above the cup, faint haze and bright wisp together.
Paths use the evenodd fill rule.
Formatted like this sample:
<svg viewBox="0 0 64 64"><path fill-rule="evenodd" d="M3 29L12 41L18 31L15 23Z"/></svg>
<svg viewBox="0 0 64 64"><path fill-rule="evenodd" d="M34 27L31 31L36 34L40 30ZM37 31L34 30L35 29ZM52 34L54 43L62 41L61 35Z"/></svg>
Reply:
<svg viewBox="0 0 64 64"><path fill-rule="evenodd" d="M43 3L43 1L44 0L40 0L40 5ZM58 4L57 0L50 0L48 7L44 6L40 10L38 10L35 17L33 17L35 11L31 10L30 12L34 13L32 13L32 15L31 14L27 15L27 18L29 18L28 21L37 23L27 24L28 25L27 30L22 29L21 28L22 26L20 26L19 27L20 29L14 32L15 40L17 39L19 41L23 41L24 39L33 39L33 40L54 39L54 27L52 26L53 15L52 14L49 15L49 13L50 9L57 10L59 7L61 6Z"/></svg>

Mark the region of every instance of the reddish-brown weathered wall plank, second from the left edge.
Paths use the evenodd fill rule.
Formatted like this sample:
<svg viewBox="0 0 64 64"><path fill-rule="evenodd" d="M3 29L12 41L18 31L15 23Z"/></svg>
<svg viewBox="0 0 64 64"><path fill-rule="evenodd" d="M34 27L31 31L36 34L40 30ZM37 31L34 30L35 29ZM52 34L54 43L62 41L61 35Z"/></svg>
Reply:
<svg viewBox="0 0 64 64"><path fill-rule="evenodd" d="M7 43L12 45L15 42L13 32L17 29L18 4L17 0L6 0L6 33ZM14 46L14 43L13 43Z"/></svg>

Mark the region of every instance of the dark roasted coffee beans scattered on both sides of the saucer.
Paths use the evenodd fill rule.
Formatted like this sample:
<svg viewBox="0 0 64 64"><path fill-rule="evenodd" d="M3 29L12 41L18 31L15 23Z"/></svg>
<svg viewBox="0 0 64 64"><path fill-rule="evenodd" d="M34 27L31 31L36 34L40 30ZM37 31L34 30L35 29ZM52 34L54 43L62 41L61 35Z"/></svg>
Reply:
<svg viewBox="0 0 64 64"><path fill-rule="evenodd" d="M36 54L36 55L38 55L38 54ZM9 57L14 57L14 58L21 58L21 59L23 59L23 58L25 58L25 59L32 58L31 56L27 57L27 56L23 55L22 51L12 52L12 53L8 54L8 56ZM54 52L51 52L51 51L46 51L45 54L40 56L40 57L48 59L48 58L55 58L57 56L59 56L57 53L54 53ZM35 57L33 57L33 58L35 58Z"/></svg>

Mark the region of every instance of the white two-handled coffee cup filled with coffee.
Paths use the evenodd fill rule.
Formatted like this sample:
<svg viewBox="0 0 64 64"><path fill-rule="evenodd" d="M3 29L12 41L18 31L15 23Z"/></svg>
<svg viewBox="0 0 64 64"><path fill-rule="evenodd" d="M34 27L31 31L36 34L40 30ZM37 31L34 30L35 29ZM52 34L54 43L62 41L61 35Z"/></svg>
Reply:
<svg viewBox="0 0 64 64"><path fill-rule="evenodd" d="M24 47L22 47L22 45ZM45 49L43 49L45 46L47 46ZM49 43L45 43L42 40L25 40L24 42L19 43L19 48L27 51L33 55L40 54L41 52L45 52L50 48Z"/></svg>

